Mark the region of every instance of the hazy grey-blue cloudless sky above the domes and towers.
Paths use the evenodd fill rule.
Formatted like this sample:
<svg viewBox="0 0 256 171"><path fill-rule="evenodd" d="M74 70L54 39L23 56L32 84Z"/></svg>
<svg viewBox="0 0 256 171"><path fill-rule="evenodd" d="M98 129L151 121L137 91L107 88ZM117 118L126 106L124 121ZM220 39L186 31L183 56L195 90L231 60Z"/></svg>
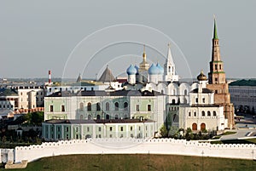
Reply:
<svg viewBox="0 0 256 171"><path fill-rule="evenodd" d="M256 1L0 1L0 78L99 78L147 60L180 77L209 71L213 14L229 78L255 78Z"/></svg>

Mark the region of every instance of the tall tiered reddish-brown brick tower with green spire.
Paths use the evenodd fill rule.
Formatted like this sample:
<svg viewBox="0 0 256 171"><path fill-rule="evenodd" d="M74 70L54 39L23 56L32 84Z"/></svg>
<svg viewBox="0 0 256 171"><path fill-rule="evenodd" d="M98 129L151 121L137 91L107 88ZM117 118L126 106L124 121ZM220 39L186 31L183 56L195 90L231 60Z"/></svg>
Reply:
<svg viewBox="0 0 256 171"><path fill-rule="evenodd" d="M214 92L214 103L224 106L224 116L228 120L227 128L233 128L234 105L230 103L229 84L226 82L224 62L220 59L216 20L214 19L212 37L212 60L210 61L210 72L208 73L209 84L207 88Z"/></svg>

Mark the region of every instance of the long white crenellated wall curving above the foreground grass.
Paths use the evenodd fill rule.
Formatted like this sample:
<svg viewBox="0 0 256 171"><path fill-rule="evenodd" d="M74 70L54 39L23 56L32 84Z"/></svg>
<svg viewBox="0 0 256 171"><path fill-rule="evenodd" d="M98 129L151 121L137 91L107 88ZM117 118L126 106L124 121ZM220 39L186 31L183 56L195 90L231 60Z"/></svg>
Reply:
<svg viewBox="0 0 256 171"><path fill-rule="evenodd" d="M211 145L173 139L63 140L15 148L15 162L70 154L170 154L256 159L256 145Z"/></svg>

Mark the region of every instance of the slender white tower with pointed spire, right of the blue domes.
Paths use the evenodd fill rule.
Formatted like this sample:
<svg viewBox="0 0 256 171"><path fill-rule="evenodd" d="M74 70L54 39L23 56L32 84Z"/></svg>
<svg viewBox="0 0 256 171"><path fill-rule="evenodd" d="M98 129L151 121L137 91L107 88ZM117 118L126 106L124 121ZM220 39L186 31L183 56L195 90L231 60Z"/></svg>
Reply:
<svg viewBox="0 0 256 171"><path fill-rule="evenodd" d="M177 82L178 75L176 75L175 65L172 60L171 44L168 43L167 59L165 64L165 77L166 82Z"/></svg>

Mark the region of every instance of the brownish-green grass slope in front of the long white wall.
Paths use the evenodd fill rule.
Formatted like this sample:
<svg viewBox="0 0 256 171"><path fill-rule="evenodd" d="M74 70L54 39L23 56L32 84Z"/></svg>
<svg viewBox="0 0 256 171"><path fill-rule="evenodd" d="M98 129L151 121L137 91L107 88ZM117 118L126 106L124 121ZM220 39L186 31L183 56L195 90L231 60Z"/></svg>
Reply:
<svg viewBox="0 0 256 171"><path fill-rule="evenodd" d="M148 166L149 163L149 166ZM4 169L8 170L8 169ZM45 157L12 171L256 170L256 161L172 155L70 155Z"/></svg>

